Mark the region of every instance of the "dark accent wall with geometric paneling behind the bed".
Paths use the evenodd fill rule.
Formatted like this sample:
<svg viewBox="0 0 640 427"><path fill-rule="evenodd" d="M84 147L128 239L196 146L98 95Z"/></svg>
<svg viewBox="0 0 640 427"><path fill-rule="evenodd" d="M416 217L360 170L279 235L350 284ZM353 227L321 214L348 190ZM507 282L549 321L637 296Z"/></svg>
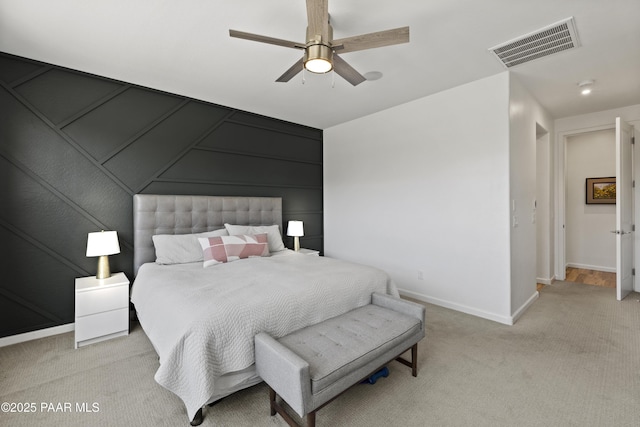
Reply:
<svg viewBox="0 0 640 427"><path fill-rule="evenodd" d="M74 321L89 232L132 279L136 193L282 197L323 248L321 130L3 53L0 185L0 337Z"/></svg>

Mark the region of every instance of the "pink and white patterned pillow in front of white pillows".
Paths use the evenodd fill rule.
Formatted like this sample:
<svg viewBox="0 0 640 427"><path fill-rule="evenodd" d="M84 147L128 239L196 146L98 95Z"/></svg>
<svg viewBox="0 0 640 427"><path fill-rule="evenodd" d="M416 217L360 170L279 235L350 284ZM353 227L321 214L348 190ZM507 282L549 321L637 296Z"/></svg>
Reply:
<svg viewBox="0 0 640 427"><path fill-rule="evenodd" d="M267 234L201 237L204 267L243 258L269 256Z"/></svg>

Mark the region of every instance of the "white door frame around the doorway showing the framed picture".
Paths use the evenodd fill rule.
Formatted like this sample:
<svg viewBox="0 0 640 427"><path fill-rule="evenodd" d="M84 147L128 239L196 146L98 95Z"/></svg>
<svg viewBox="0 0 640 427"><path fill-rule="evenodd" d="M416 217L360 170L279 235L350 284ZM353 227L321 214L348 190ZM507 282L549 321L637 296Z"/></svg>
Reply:
<svg viewBox="0 0 640 427"><path fill-rule="evenodd" d="M566 279L567 254L566 254L566 169L567 169L567 140L570 136L580 135L588 132L599 130L616 129L615 120L611 124L593 126L581 129L573 129L559 132L556 136L556 221L555 221L555 237L556 237L556 257L555 257L555 277L558 280Z"/></svg>

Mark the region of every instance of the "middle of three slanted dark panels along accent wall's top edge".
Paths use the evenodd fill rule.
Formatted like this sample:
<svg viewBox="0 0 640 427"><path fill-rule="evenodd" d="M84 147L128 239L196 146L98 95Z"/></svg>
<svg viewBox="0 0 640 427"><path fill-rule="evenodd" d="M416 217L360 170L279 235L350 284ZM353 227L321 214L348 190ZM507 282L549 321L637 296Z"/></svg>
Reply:
<svg viewBox="0 0 640 427"><path fill-rule="evenodd" d="M63 131L100 161L151 127L182 100L159 92L128 88L74 120ZM117 123L117 126L113 124Z"/></svg>

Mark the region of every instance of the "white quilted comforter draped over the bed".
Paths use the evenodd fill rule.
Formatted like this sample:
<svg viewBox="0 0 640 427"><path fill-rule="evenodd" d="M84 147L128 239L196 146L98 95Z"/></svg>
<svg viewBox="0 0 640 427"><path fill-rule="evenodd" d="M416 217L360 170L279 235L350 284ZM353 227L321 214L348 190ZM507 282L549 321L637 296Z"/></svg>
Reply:
<svg viewBox="0 0 640 427"><path fill-rule="evenodd" d="M218 377L254 363L258 332L284 336L369 304L372 292L398 296L378 269L283 251L209 268L145 264L131 301L160 356L155 380L192 419Z"/></svg>

